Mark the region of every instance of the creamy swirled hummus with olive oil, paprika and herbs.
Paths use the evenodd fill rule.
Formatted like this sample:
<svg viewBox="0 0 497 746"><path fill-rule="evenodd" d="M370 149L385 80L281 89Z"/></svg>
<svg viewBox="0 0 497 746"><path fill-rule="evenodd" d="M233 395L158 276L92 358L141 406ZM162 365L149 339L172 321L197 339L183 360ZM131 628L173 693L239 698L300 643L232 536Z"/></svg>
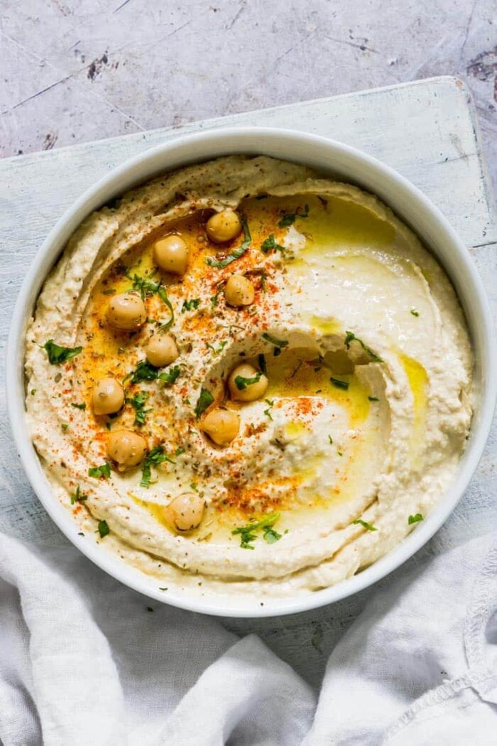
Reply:
<svg viewBox="0 0 497 746"><path fill-rule="evenodd" d="M217 213L231 239L206 230ZM176 274L156 263L170 236ZM123 294L136 328L113 321ZM161 334L164 366L145 354ZM25 372L75 533L202 595L305 594L370 565L443 496L472 415L463 313L417 236L375 196L268 157L190 166L89 216L39 295ZM102 414L108 379L121 401ZM122 433L139 436L127 461Z"/></svg>

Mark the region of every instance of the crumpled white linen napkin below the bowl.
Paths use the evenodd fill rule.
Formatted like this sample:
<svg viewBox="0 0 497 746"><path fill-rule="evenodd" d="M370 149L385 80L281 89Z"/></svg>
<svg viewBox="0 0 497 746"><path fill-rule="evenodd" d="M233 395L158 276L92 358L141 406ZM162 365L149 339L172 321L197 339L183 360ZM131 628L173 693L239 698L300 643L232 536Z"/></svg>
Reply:
<svg viewBox="0 0 497 746"><path fill-rule="evenodd" d="M148 601L74 548L0 535L0 625L2 746L497 742L497 535L378 591L317 703L256 636Z"/></svg>

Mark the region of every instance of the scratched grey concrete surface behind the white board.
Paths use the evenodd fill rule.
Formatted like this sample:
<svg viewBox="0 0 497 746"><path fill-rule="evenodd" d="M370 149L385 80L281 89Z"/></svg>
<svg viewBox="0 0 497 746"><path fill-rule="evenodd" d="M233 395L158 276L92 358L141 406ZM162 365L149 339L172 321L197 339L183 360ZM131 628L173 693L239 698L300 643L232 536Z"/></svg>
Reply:
<svg viewBox="0 0 497 746"><path fill-rule="evenodd" d="M460 75L497 181L497 0L0 0L0 70L3 156Z"/></svg>

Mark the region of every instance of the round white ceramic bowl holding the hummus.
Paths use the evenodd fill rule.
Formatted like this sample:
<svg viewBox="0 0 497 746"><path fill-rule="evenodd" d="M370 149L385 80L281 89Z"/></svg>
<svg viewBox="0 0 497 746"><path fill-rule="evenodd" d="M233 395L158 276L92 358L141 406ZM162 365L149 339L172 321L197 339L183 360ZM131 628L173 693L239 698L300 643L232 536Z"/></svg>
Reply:
<svg viewBox="0 0 497 746"><path fill-rule="evenodd" d="M165 594L158 589L155 579L125 565L92 536L77 536L72 515L60 505L45 479L25 418L26 323L48 271L77 225L93 210L139 182L187 163L233 153L266 154L306 163L324 175L350 181L378 195L416 231L446 269L466 314L475 352L476 405L472 429L454 483L437 507L398 547L354 577L304 597L265 601L264 606L258 598L244 601L228 596L192 598L172 587ZM301 132L262 128L224 129L178 137L128 160L88 189L60 219L34 257L19 293L7 350L7 401L13 436L31 485L60 530L96 565L156 601L197 612L240 617L288 614L338 601L375 583L420 549L454 510L478 466L493 417L496 380L493 324L484 288L466 247L437 207L393 169L355 148Z"/></svg>

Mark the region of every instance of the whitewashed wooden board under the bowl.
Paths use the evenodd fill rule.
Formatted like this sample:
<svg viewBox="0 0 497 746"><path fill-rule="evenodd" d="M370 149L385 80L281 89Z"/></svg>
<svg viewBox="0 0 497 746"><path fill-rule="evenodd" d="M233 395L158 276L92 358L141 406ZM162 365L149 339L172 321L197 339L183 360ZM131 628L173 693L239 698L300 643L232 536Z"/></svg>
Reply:
<svg viewBox="0 0 497 746"><path fill-rule="evenodd" d="M393 166L419 186L460 233L481 272L495 313L497 227L475 111L460 81L431 78L0 160L2 347L13 302L31 258L54 222L87 186L128 157L178 134L233 125L278 126L333 137ZM2 373L2 388L3 381ZM39 505L22 472L2 394L0 530L39 544L62 545L66 539ZM463 501L410 566L496 525L496 450L494 427ZM81 562L87 561L81 557ZM225 624L240 634L259 633L279 656L317 684L329 651L370 595L367 590L325 609L292 617L227 619Z"/></svg>

